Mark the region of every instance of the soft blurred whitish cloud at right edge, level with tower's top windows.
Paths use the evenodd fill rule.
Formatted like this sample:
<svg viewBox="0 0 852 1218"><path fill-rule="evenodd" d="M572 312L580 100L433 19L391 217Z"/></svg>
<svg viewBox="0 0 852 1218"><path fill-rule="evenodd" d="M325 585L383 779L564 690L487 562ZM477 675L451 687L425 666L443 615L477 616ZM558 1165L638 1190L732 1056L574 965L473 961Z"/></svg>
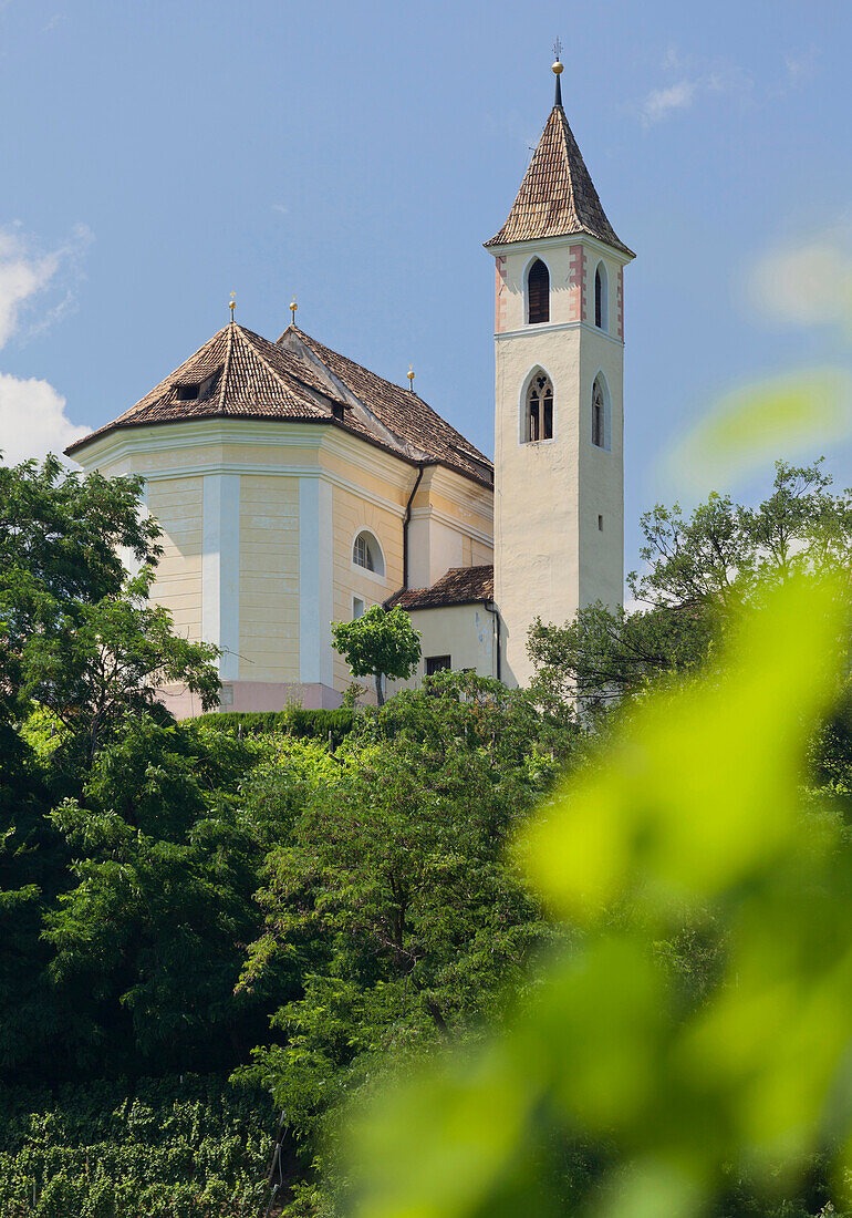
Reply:
<svg viewBox="0 0 852 1218"><path fill-rule="evenodd" d="M852 227L837 225L763 253L747 279L758 315L785 326L852 322Z"/></svg>

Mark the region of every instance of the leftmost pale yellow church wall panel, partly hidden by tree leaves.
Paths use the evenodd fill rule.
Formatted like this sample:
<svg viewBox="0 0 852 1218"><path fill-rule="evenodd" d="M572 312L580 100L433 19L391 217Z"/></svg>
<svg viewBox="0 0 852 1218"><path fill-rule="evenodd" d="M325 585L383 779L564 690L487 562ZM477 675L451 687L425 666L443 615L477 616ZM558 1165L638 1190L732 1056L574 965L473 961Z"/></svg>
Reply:
<svg viewBox="0 0 852 1218"><path fill-rule="evenodd" d="M203 481L201 477L156 479L147 484L147 510L163 531L163 557L152 588L155 600L174 618L187 638L201 636L201 555Z"/></svg>

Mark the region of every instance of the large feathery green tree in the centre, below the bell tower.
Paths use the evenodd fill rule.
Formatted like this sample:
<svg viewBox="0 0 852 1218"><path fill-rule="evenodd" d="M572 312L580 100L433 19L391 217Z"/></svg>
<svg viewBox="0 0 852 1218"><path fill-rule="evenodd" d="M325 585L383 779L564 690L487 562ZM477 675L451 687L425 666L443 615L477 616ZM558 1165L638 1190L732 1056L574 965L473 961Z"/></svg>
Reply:
<svg viewBox="0 0 852 1218"><path fill-rule="evenodd" d="M441 674L368 716L304 799L268 857L242 984L299 961L303 994L273 1019L284 1044L245 1075L309 1151L388 1054L445 1043L522 977L546 932L504 849L574 747L522 693Z"/></svg>

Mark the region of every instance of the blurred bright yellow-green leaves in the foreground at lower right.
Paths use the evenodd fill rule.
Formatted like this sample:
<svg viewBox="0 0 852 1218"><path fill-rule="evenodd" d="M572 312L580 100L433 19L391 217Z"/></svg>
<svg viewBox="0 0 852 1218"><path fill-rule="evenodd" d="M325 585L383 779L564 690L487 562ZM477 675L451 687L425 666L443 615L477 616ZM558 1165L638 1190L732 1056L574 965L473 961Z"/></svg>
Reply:
<svg viewBox="0 0 852 1218"><path fill-rule="evenodd" d="M852 842L802 794L847 609L826 582L768 599L520 834L583 940L477 1051L351 1113L347 1212L789 1213L820 1153L848 1202ZM708 918L719 976L690 1001L658 945Z"/></svg>

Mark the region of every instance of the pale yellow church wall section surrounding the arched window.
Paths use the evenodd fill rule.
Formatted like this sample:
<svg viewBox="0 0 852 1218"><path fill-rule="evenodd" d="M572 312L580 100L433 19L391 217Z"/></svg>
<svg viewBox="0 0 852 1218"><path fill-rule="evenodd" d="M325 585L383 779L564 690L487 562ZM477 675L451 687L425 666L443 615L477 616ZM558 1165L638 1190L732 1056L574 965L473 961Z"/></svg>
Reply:
<svg viewBox="0 0 852 1218"><path fill-rule="evenodd" d="M333 520L333 618L351 621L353 597L364 600L365 607L381 604L403 582L403 519L400 512L391 512L361 498L357 492L335 486L332 491ZM379 541L385 558L385 575L366 571L352 560L352 547L357 535L368 529ZM331 636L329 635L329 647ZM343 692L353 680L348 665L333 653L333 686ZM368 683L368 682L365 682ZM369 699L368 699L369 700Z"/></svg>

